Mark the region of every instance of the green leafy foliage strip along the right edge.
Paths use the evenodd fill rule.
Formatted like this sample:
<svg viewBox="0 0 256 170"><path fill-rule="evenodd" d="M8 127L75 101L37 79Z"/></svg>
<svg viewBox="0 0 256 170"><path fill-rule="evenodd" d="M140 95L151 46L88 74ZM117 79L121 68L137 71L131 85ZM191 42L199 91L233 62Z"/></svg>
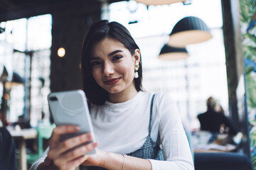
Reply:
<svg viewBox="0 0 256 170"><path fill-rule="evenodd" d="M247 91L247 107L249 114L256 111L256 26L246 31L252 17L256 12L255 0L240 0L240 21L242 33L242 50L245 60L252 64L245 64L245 88ZM255 65L254 65L255 64ZM252 148L252 165L256 170L256 120L255 115L250 117L250 145Z"/></svg>

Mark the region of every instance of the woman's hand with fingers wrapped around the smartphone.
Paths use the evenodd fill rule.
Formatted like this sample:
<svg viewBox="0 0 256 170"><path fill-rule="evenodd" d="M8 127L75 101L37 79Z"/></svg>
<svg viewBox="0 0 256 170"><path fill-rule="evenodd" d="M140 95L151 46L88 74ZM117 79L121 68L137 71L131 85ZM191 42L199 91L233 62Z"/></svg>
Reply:
<svg viewBox="0 0 256 170"><path fill-rule="evenodd" d="M73 147L92 140L90 133L82 134L60 142L61 135L78 132L78 130L79 128L75 125L58 126L53 130L53 134L49 140L50 149L48 152L48 159L51 159L53 164L60 170L75 169L88 158L88 156L85 156L84 154L97 147L97 142L91 142L87 145L72 149Z"/></svg>

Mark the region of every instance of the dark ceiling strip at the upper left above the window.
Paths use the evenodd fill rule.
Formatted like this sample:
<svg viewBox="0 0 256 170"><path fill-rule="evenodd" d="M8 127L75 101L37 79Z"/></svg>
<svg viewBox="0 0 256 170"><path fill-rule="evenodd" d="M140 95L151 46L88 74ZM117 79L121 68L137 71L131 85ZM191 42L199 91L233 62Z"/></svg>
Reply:
<svg viewBox="0 0 256 170"><path fill-rule="evenodd" d="M0 22L18 18L43 15L46 13L66 12L84 7L83 13L91 12L90 6L101 1L113 3L124 0L0 0Z"/></svg>

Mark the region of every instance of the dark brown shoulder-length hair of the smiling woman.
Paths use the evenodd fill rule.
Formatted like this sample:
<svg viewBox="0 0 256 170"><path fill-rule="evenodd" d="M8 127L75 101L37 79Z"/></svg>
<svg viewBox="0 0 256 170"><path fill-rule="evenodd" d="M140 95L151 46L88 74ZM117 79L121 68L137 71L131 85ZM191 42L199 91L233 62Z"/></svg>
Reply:
<svg viewBox="0 0 256 170"><path fill-rule="evenodd" d="M90 64L90 56L93 47L105 38L112 38L121 42L124 47L134 55L138 45L129 33L129 30L117 22L109 22L107 20L94 23L87 33L82 45L81 69L82 69L82 86L88 100L96 105L102 105L107 101L108 92L100 87L92 77L92 68ZM139 62L139 78L134 79L137 91L142 90L142 58Z"/></svg>

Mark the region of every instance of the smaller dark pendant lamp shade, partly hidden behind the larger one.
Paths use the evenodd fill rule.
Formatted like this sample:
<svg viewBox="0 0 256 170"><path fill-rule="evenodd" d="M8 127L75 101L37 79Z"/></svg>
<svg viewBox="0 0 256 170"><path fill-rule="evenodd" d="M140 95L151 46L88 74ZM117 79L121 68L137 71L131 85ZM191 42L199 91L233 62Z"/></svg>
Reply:
<svg viewBox="0 0 256 170"><path fill-rule="evenodd" d="M185 47L171 47L165 44L160 51L161 60L181 60L188 57L188 51Z"/></svg>

